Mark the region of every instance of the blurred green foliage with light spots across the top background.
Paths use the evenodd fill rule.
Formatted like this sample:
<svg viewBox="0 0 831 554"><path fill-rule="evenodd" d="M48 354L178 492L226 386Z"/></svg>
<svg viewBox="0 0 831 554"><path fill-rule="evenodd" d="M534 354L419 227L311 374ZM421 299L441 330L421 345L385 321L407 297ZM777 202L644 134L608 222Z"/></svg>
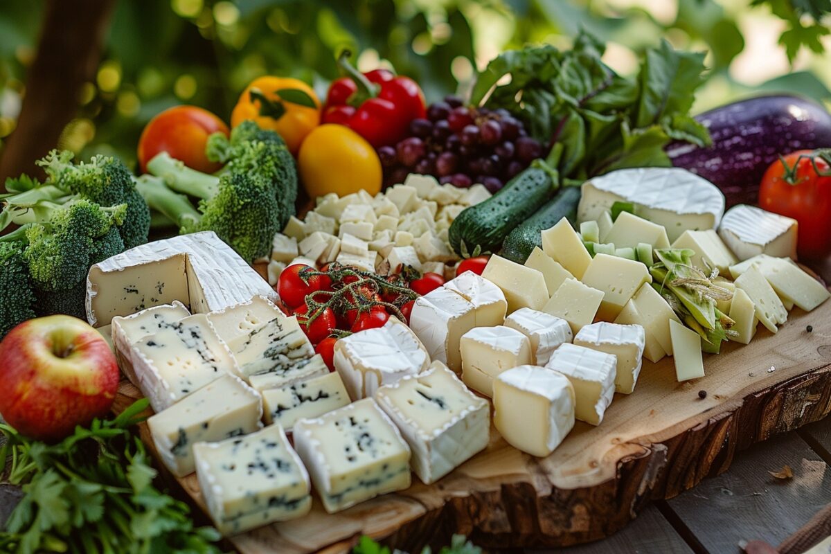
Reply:
<svg viewBox="0 0 831 554"><path fill-rule="evenodd" d="M359 53L361 69L391 63L436 100L465 93L474 68L504 48L567 47L581 27L610 43L608 63L624 73L660 37L708 51L711 76L698 109L752 91L799 91L829 101L831 76L810 71L829 66L829 59L804 53L820 50L827 30L821 11L817 18L793 11L805 1L755 0L749 7L747 0L120 0L96 79L82 91L78 117L60 146L83 158L114 153L135 164L140 131L160 110L196 104L227 120L239 91L268 73L300 77L324 96L344 48ZM0 141L12 132L25 93L42 4L4 2L0 13ZM760 17L788 22L784 32L772 27L771 40L781 43L783 63L795 64L766 81L752 71L748 78L752 61L739 63L754 54L747 45L755 37L742 29L757 32Z"/></svg>

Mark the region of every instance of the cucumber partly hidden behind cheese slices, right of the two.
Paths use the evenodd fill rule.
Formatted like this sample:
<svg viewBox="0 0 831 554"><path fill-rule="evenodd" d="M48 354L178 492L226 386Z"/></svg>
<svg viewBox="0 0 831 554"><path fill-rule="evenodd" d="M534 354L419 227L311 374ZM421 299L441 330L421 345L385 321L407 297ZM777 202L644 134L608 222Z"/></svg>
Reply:
<svg viewBox="0 0 831 554"><path fill-rule="evenodd" d="M543 239L539 233L552 228L562 218L567 218L572 227L575 225L579 202L579 187L560 189L557 196L510 232L502 245L502 256L512 262L525 263L534 247L543 246Z"/></svg>

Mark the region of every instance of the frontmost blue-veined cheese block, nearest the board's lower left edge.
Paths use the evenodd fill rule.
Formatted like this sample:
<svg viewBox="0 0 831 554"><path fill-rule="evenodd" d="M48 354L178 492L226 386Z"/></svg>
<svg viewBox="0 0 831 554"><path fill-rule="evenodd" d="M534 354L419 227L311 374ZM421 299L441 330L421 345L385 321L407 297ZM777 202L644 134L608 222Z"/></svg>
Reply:
<svg viewBox="0 0 831 554"><path fill-rule="evenodd" d="M194 444L194 460L210 517L225 535L301 517L312 508L308 473L279 425Z"/></svg>

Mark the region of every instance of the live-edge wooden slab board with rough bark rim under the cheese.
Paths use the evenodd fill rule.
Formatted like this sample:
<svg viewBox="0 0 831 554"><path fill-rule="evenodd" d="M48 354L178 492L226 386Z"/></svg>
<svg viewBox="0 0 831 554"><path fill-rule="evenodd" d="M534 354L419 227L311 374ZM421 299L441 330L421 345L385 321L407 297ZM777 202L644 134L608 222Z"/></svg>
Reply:
<svg viewBox="0 0 831 554"><path fill-rule="evenodd" d="M676 382L670 357L643 363L635 392L616 394L600 426L578 422L548 458L519 452L492 429L489 447L438 483L414 476L406 491L332 515L316 499L306 517L231 542L243 554L301 554L347 552L361 534L411 552L453 532L483 547L607 537L651 499L725 471L737 450L829 414L831 302L809 314L795 308L779 333L759 326L750 345L706 355L699 380ZM116 410L139 397L125 381ZM145 425L141 432L152 448ZM195 474L179 483L204 507Z"/></svg>

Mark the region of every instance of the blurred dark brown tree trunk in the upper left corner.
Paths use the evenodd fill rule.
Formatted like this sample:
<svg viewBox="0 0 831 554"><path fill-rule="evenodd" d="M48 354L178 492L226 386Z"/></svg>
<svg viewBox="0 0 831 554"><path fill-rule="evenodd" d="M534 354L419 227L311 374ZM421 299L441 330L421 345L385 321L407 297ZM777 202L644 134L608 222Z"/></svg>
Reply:
<svg viewBox="0 0 831 554"><path fill-rule="evenodd" d="M26 95L0 158L0 192L7 177L36 173L35 160L57 145L76 115L81 86L95 76L115 0L49 0Z"/></svg>

